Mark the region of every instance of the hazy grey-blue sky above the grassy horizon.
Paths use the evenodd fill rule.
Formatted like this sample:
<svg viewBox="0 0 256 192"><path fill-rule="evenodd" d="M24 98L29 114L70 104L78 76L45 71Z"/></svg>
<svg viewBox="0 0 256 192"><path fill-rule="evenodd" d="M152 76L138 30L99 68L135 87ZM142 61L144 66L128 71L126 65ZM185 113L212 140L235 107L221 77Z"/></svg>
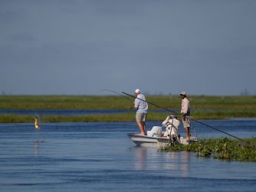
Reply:
<svg viewBox="0 0 256 192"><path fill-rule="evenodd" d="M256 95L254 0L0 0L0 94Z"/></svg>

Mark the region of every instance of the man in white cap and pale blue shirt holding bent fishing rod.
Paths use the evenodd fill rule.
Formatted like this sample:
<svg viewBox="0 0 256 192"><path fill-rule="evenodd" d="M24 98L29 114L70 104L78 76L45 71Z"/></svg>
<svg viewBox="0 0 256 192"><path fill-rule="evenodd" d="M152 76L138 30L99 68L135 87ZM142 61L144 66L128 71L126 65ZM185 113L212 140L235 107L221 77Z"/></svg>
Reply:
<svg viewBox="0 0 256 192"><path fill-rule="evenodd" d="M140 135L146 135L146 114L148 110L148 104L146 103L145 96L140 93L139 89L135 90L136 99L134 101L134 107L136 112L136 123L139 126Z"/></svg>

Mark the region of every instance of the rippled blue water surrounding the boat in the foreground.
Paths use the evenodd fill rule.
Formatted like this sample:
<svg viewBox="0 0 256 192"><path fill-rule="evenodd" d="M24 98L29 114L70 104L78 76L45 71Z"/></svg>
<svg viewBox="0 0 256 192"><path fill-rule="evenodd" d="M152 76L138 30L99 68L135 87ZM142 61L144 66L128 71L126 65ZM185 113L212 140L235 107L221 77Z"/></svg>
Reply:
<svg viewBox="0 0 256 192"><path fill-rule="evenodd" d="M256 137L255 119L204 122ZM225 136L194 127L200 137ZM127 132L138 132L134 122L48 123L40 131L32 124L0 124L0 191L256 190L256 163L136 148Z"/></svg>

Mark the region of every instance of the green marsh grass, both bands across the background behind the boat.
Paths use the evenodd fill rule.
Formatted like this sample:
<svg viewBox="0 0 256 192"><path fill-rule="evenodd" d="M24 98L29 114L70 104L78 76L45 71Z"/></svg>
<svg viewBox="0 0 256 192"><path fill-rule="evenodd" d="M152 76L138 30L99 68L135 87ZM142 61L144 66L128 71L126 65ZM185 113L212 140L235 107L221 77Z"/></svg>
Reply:
<svg viewBox="0 0 256 192"><path fill-rule="evenodd" d="M163 108L179 112L179 96L146 96L146 99ZM192 116L195 119L255 118L256 96L189 96ZM120 114L88 116L40 116L41 122L127 122L134 121L133 98L122 96L0 96L0 110L128 110ZM149 104L148 121L162 121L171 112L154 112L159 109ZM2 114L0 123L33 122L34 116Z"/></svg>

